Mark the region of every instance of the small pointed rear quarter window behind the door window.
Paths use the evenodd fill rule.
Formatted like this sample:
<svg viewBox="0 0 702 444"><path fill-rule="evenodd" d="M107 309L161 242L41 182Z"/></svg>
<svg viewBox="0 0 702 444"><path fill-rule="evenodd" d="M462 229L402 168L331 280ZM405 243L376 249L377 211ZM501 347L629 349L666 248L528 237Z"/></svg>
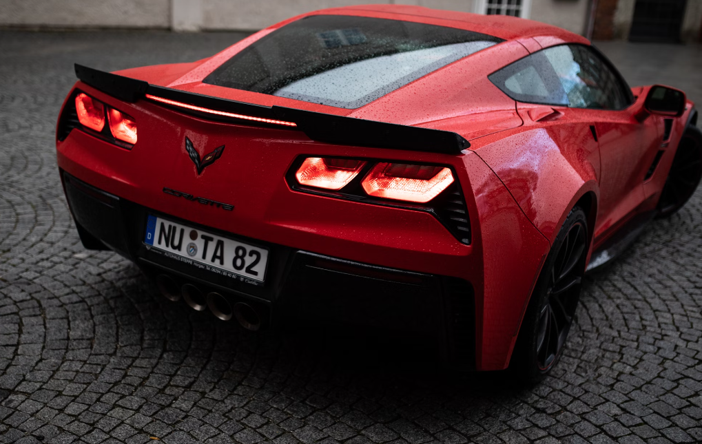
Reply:
<svg viewBox="0 0 702 444"><path fill-rule="evenodd" d="M488 79L517 102L568 106L568 97L544 51L517 60Z"/></svg>

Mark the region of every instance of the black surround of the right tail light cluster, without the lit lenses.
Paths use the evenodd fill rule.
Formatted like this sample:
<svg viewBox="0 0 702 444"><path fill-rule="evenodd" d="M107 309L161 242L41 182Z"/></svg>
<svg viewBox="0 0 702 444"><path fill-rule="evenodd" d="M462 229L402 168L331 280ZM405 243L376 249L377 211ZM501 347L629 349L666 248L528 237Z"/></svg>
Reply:
<svg viewBox="0 0 702 444"><path fill-rule="evenodd" d="M302 185L298 182L295 174L297 173L300 166L302 166L303 161L308 157L323 157L324 159L352 159L365 161L366 164L361 168L356 177L346 184L342 189L331 190L323 189L317 187L309 187ZM371 168L377 163L390 162L390 163L407 163L409 165L426 165L426 166L440 166L451 169L451 174L453 175L453 183L449 185L444 191L439 193L434 199L426 203L415 203L407 201L398 201L395 199L385 199L380 197L373 197L366 194L361 182L364 177L369 173ZM470 229L470 217L468 217L468 207L465 204L465 197L463 196L463 190L461 189L461 184L458 182L458 175L456 174L456 169L450 165L444 165L442 163L432 163L432 162L416 162L416 161L401 161L397 159L370 159L370 158L360 158L352 156L322 156L317 154L302 154L298 156L293 164L289 168L285 175L286 182L293 191L299 191L307 194L316 194L317 196L333 197L336 199L343 199L346 201L355 201L362 203L370 203L372 205L386 206L392 208L402 208L404 210L417 210L423 211L425 213L430 213L432 216L436 217L439 222L441 222L446 229L456 238L459 242L470 245L471 243L471 229Z"/></svg>

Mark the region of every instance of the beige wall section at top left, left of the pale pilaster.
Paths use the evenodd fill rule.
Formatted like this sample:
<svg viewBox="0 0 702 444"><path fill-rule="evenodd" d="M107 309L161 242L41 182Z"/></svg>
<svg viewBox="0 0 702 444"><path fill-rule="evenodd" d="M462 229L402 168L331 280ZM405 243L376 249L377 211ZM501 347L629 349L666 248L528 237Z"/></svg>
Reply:
<svg viewBox="0 0 702 444"><path fill-rule="evenodd" d="M0 26L168 28L171 0L2 0Z"/></svg>

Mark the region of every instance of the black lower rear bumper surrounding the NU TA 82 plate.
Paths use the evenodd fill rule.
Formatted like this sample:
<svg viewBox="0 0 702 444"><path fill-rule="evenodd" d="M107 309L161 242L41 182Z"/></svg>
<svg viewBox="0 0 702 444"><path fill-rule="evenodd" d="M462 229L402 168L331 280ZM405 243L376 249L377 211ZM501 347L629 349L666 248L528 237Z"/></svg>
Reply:
<svg viewBox="0 0 702 444"><path fill-rule="evenodd" d="M255 304L264 323L307 319L366 325L430 339L447 363L475 368L475 296L461 278L378 267L245 238L180 220L102 191L61 171L69 207L87 248L101 244L147 274L216 290L230 303ZM143 243L148 215L166 217L270 250L263 285L198 269Z"/></svg>

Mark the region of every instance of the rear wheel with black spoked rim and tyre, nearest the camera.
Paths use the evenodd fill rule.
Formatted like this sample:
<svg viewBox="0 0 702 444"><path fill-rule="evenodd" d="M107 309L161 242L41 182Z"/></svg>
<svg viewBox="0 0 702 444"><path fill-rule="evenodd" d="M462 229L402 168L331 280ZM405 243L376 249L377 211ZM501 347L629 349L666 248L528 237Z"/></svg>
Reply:
<svg viewBox="0 0 702 444"><path fill-rule="evenodd" d="M541 381L561 357L578 307L587 255L587 217L576 207L548 253L519 329L510 370L520 382Z"/></svg>

